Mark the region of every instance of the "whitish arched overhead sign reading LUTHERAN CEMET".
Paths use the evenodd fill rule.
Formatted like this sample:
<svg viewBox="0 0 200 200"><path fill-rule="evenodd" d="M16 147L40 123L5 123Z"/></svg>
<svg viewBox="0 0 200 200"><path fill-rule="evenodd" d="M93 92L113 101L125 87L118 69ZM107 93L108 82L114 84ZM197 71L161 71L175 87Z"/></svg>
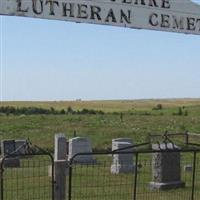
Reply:
<svg viewBox="0 0 200 200"><path fill-rule="evenodd" d="M0 14L200 34L191 0L0 0Z"/></svg>

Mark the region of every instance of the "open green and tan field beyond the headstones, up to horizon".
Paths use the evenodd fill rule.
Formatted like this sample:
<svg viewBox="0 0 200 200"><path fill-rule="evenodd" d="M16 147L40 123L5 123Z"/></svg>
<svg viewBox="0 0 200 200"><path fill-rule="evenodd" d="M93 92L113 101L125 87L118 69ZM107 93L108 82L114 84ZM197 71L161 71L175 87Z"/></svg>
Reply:
<svg viewBox="0 0 200 200"><path fill-rule="evenodd" d="M158 104L162 104L162 109L153 109ZM0 140L29 138L34 144L50 149L55 133L64 133L70 138L76 131L77 136L89 137L94 149L110 148L111 139L117 137L131 137L140 143L149 133L186 130L200 133L200 99L1 103L1 106L8 105L55 109L71 106L74 110L87 108L105 112L104 115L0 115ZM182 114L178 115L180 108Z"/></svg>

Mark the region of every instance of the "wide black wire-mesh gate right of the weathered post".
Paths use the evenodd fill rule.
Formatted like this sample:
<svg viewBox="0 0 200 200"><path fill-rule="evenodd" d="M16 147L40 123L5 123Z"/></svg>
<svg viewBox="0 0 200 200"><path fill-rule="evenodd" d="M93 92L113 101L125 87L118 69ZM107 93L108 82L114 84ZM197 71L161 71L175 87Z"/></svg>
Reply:
<svg viewBox="0 0 200 200"><path fill-rule="evenodd" d="M123 155L132 156L130 168L113 163ZM87 157L90 162L79 162ZM70 161L68 185L68 200L199 200L200 149L76 154Z"/></svg>

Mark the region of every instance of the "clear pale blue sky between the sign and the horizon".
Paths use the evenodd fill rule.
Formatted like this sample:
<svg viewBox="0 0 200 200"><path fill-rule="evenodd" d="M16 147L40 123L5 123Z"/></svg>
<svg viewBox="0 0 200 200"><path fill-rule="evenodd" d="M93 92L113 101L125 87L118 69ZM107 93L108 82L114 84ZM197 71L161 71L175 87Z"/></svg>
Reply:
<svg viewBox="0 0 200 200"><path fill-rule="evenodd" d="M3 100L200 97L200 36L1 18Z"/></svg>

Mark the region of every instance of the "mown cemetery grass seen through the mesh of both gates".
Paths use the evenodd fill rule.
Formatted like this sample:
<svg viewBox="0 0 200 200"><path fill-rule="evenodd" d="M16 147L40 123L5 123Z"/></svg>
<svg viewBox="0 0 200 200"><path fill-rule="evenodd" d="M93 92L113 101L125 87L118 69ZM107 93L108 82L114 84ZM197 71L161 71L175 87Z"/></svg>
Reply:
<svg viewBox="0 0 200 200"><path fill-rule="evenodd" d="M188 162L192 162L191 155L182 155L184 158L181 168ZM30 161L31 160L31 161ZM8 168L5 171L5 191L6 200L17 199L51 199L50 177L48 177L49 160L45 156L22 159L21 168ZM38 168L39 162L46 165ZM200 155L198 155L199 166ZM32 162L32 168L30 167ZM99 164L81 165L77 164L74 168L72 181L72 199L74 200L124 200L132 199L134 188L134 174L111 174L111 158L106 156L98 157ZM149 189L151 181L151 156L142 155L139 163L143 166L138 173L137 200L188 200L191 196L192 173L182 170L182 180L186 183L185 188L171 189L165 191L154 191ZM17 177L17 179L16 179ZM97 181L98 180L98 181ZM68 177L67 177L68 181ZM200 171L198 168L195 187L195 199L200 195ZM38 184L39 183L39 184ZM42 198L41 198L42 197Z"/></svg>

